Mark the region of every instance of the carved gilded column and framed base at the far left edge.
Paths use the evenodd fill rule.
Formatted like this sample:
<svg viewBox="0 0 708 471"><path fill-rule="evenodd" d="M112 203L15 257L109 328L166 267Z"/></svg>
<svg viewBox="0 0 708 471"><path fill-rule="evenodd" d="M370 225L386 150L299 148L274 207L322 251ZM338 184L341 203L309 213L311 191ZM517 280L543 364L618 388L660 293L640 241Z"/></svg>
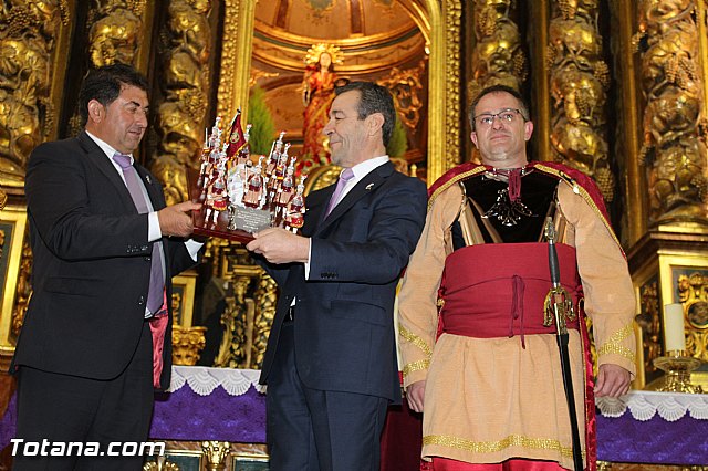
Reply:
<svg viewBox="0 0 708 471"><path fill-rule="evenodd" d="M24 175L40 143L56 137L73 2L0 4L0 367L7 369L31 295Z"/></svg>

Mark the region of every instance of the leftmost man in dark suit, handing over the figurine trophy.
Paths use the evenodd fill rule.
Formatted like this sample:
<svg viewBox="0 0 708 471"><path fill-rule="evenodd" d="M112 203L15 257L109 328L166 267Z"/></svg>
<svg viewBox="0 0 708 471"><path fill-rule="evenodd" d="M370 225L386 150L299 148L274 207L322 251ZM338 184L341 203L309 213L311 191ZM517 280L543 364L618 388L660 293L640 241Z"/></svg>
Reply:
<svg viewBox="0 0 708 471"><path fill-rule="evenodd" d="M142 469L143 457L22 456L28 442L147 439L154 387L169 386L173 275L201 243L186 213L133 160L147 128L145 77L115 64L80 91L85 130L32 153L25 192L32 299L11 371L18 375L15 470ZM123 443L121 443L123 444ZM42 454L42 453L38 453ZM52 454L52 453L46 453ZM95 458L94 458L95 460Z"/></svg>

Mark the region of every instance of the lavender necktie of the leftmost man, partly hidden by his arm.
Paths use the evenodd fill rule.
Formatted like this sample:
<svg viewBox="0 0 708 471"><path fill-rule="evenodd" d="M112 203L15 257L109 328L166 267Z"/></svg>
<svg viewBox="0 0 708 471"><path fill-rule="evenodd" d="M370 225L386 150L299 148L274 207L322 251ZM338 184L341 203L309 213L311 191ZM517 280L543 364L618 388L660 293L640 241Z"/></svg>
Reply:
<svg viewBox="0 0 708 471"><path fill-rule="evenodd" d="M125 177L125 186L128 187L133 202L137 212L145 214L148 212L147 201L145 201L145 193L143 192L143 186L137 179L137 171L131 164L131 156L115 153L113 156L121 168L123 169L123 177ZM147 310L150 314L157 314L157 311L163 306L165 301L165 279L163 276L163 257L159 250L157 241L153 243L153 257L150 262L150 285L147 293Z"/></svg>

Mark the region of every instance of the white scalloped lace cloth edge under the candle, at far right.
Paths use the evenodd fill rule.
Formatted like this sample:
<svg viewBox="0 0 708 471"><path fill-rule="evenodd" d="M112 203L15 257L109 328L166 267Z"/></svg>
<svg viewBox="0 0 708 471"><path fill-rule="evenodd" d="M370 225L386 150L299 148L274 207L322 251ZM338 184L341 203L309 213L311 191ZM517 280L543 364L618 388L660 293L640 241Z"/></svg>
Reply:
<svg viewBox="0 0 708 471"><path fill-rule="evenodd" d="M708 395L633 390L620 398L598 397L595 404L604 417L621 417L627 409L636 420L647 421L656 414L674 422L686 414L708 420Z"/></svg>

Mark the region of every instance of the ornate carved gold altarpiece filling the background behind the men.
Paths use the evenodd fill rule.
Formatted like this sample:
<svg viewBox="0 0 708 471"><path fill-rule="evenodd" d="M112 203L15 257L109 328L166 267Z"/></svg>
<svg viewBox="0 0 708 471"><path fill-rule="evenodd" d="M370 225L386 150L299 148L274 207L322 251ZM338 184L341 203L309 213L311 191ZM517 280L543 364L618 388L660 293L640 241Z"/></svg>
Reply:
<svg viewBox="0 0 708 471"><path fill-rule="evenodd" d="M260 64L279 62L282 71L292 72L302 65L293 59L298 51L314 42L365 54L361 51L397 40L379 34L367 43L369 39L362 34L295 36L277 25L264 28L258 12L270 3L288 4L274 0L3 3L3 365L12 354L31 297L31 252L23 237L24 166L35 145L77 130L74 84L88 67L122 61L148 75L155 124L139 160L163 180L168 201L175 202L186 198L185 168L197 165L204 128L216 115L228 116L237 107L248 119L251 86L273 75L259 69ZM637 291L641 373L635 387L653 387L660 380L652 360L664 353L664 304L684 304L687 349L708 360L708 2L379 3L396 3L415 24L421 65L409 71L415 71L416 78L424 77L421 85L410 86L410 77L403 72L389 74L398 64L382 61L368 65L369 75L355 66L348 73L371 78L376 70L375 78L387 81L392 88L408 84L407 93L423 103L415 111L424 125L408 133L418 138L424 134L425 138L418 139L424 145L405 164L423 169L417 175L431 184L456 164L476 158L468 139L471 96L494 83L522 91L533 108L533 155L590 174L607 200ZM277 41L269 43L269 38ZM275 42L285 44L283 55L269 53L268 44ZM272 83L278 80L285 81L274 78ZM313 171L309 186L321 187L332 180L333 171L320 168ZM226 310L220 324L226 335L214 363L257 368L274 313L277 287L240 245L214 240L207 260L208 270L187 276L185 293L194 293L195 284L209 280L228 286L221 293ZM181 302L195 304L194 294L189 297ZM185 348L202 345L189 337L190 327L183 325ZM707 383L700 371L695 380Z"/></svg>

